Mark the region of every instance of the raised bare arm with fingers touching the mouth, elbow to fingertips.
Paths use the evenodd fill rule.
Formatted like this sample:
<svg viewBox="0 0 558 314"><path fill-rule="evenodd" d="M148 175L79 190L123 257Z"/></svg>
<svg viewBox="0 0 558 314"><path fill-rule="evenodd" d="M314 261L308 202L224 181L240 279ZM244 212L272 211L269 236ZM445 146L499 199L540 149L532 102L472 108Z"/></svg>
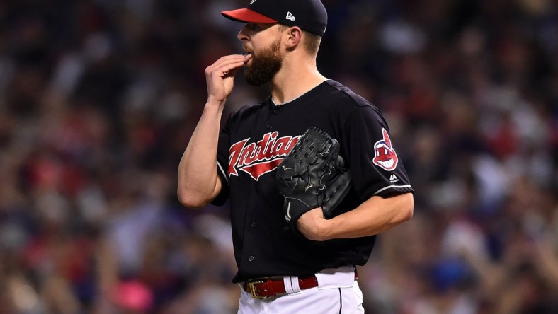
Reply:
<svg viewBox="0 0 558 314"><path fill-rule="evenodd" d="M221 191L217 175L217 143L224 103L234 75L247 62L241 54L225 56L205 69L207 103L178 164L178 199L186 207L203 207Z"/></svg>

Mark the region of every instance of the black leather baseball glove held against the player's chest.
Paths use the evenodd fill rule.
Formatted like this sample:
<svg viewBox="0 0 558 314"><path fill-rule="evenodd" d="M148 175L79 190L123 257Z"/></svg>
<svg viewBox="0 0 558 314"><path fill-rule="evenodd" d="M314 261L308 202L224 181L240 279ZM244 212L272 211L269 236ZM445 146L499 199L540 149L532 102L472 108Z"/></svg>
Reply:
<svg viewBox="0 0 558 314"><path fill-rule="evenodd" d="M329 218L343 200L351 187L351 175L343 164L338 141L317 127L309 127L283 158L275 179L285 198L285 220L295 233L302 214L321 207Z"/></svg>

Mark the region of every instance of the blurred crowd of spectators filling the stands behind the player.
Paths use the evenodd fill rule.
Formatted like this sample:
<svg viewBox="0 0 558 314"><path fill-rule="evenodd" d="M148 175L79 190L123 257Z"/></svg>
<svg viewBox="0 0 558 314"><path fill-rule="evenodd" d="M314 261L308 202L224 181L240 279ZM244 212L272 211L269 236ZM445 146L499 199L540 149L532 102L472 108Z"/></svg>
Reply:
<svg viewBox="0 0 558 314"><path fill-rule="evenodd" d="M176 169L246 4L0 1L0 313L236 313L228 208L182 207ZM324 4L318 67L416 191L358 268L367 313L558 313L557 1Z"/></svg>

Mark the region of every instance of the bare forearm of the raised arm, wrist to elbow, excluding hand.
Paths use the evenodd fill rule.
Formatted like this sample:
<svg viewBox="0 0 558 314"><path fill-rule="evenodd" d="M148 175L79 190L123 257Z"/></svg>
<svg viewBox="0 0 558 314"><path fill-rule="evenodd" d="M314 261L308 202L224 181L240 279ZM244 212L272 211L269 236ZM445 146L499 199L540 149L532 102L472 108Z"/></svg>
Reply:
<svg viewBox="0 0 558 314"><path fill-rule="evenodd" d="M187 207L203 207L221 189L217 176L217 143L223 106L206 103L178 164L178 199Z"/></svg>

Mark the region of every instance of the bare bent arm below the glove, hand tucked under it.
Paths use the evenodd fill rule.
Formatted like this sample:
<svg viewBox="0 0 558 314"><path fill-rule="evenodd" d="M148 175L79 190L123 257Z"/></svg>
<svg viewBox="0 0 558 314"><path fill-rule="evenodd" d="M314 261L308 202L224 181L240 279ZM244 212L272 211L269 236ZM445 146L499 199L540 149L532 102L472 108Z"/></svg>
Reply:
<svg viewBox="0 0 558 314"><path fill-rule="evenodd" d="M325 219L321 207L307 211L297 221L298 231L309 240L358 238L382 233L413 216L412 193L393 197L373 196L352 211Z"/></svg>

